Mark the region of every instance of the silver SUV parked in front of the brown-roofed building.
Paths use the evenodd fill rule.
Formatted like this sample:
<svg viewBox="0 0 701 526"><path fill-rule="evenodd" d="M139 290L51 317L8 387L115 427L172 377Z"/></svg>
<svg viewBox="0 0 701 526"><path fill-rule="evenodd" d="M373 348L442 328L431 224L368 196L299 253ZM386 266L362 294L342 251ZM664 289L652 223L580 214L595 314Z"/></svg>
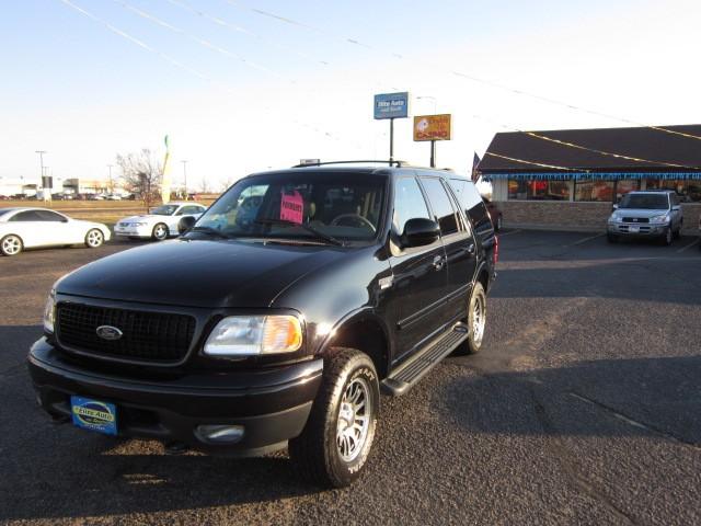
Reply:
<svg viewBox="0 0 701 526"><path fill-rule="evenodd" d="M630 192L613 205L607 237L611 243L620 238L658 238L671 244L682 226L681 205L674 191Z"/></svg>

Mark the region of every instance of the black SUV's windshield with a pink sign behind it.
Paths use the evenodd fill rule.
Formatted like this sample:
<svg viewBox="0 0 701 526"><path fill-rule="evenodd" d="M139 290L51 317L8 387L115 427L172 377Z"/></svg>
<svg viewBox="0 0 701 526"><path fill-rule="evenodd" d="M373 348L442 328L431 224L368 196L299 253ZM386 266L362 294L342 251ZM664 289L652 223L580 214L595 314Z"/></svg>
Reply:
<svg viewBox="0 0 701 526"><path fill-rule="evenodd" d="M195 230L228 237L375 239L386 178L358 172L266 174L234 184L197 221Z"/></svg>

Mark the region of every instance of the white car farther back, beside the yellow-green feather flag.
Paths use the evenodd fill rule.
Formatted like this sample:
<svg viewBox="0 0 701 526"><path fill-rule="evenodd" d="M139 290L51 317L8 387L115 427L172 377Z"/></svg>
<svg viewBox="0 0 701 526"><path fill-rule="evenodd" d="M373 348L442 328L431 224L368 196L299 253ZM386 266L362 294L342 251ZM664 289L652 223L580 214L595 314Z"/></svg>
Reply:
<svg viewBox="0 0 701 526"><path fill-rule="evenodd" d="M162 241L169 236L177 236L177 224L184 216L197 219L207 208L197 203L169 203L151 210L146 216L119 219L114 226L115 236L126 238L151 238Z"/></svg>

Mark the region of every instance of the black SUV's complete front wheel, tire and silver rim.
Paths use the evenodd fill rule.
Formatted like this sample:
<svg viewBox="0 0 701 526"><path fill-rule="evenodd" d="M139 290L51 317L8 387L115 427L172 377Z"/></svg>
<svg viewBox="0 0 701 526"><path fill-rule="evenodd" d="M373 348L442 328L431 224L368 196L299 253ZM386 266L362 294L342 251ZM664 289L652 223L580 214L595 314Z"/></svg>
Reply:
<svg viewBox="0 0 701 526"><path fill-rule="evenodd" d="M332 488L356 480L372 446L379 402L370 357L355 348L331 348L307 425L289 441L289 456L300 476Z"/></svg>

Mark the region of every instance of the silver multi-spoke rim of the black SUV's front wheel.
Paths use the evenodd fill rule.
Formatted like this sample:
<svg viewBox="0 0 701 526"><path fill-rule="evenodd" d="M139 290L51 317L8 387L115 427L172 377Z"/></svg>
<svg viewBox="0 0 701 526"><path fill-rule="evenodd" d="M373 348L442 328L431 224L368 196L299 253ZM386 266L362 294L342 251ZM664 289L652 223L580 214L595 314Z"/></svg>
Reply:
<svg viewBox="0 0 701 526"><path fill-rule="evenodd" d="M363 450L372 414L370 387L364 378L355 378L346 386L341 399L336 422L336 447L345 462L350 462Z"/></svg>

